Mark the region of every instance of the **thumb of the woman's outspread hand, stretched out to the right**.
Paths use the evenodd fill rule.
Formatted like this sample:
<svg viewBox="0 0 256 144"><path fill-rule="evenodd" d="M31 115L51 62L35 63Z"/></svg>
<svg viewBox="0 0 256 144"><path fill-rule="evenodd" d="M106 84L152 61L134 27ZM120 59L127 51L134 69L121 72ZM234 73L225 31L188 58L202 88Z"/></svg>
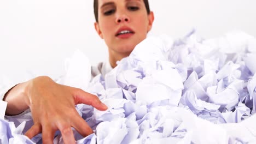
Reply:
<svg viewBox="0 0 256 144"><path fill-rule="evenodd" d="M108 109L108 107L105 104L103 104L96 95L85 92L82 89L77 89L75 93L75 99L78 102L77 104L91 105L96 109L102 111Z"/></svg>

